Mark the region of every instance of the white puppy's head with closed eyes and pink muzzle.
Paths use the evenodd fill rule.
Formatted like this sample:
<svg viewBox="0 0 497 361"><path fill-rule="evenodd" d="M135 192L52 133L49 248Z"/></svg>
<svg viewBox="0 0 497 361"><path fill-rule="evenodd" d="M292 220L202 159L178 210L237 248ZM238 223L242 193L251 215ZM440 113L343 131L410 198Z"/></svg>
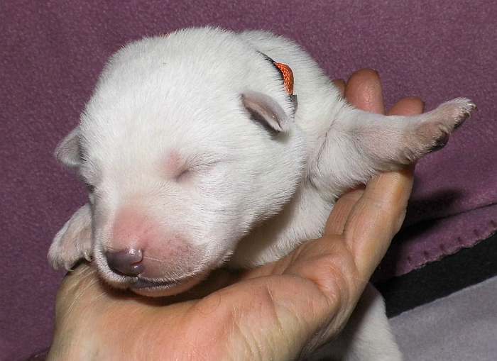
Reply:
<svg viewBox="0 0 497 361"><path fill-rule="evenodd" d="M115 287L192 287L302 179L278 72L236 35L190 29L128 45L56 150L88 184L93 257Z"/></svg>

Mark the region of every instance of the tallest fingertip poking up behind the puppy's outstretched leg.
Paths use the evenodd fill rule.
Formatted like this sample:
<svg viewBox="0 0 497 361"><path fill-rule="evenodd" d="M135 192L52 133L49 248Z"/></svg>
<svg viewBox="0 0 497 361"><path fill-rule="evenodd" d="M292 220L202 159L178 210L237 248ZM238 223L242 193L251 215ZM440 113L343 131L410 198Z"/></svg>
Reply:
<svg viewBox="0 0 497 361"><path fill-rule="evenodd" d="M345 97L356 108L372 113L385 113L380 77L374 70L362 69L354 72L346 84Z"/></svg>

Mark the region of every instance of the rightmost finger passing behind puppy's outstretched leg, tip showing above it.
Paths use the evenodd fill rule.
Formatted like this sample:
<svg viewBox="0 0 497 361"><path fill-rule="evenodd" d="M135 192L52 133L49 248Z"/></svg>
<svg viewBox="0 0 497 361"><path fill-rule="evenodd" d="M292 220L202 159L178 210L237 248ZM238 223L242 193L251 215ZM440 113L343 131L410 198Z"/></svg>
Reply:
<svg viewBox="0 0 497 361"><path fill-rule="evenodd" d="M405 98L389 113L415 115L422 113L423 106L419 98ZM412 187L413 167L380 174L371 179L363 197L351 211L346 223L346 242L364 279L371 277L400 229Z"/></svg>

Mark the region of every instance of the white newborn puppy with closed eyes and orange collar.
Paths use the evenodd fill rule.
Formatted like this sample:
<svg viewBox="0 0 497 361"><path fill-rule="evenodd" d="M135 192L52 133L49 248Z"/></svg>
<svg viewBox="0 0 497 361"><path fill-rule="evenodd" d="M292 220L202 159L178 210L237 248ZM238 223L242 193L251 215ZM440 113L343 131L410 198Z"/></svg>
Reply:
<svg viewBox="0 0 497 361"><path fill-rule="evenodd" d="M421 116L354 109L304 50L271 33L144 38L111 57L58 145L89 203L48 258L66 269L92 259L109 284L147 296L185 291L226 263L278 260L320 237L337 196L443 147L472 109L463 98ZM383 353L344 357L399 359L378 302L356 343L383 342Z"/></svg>

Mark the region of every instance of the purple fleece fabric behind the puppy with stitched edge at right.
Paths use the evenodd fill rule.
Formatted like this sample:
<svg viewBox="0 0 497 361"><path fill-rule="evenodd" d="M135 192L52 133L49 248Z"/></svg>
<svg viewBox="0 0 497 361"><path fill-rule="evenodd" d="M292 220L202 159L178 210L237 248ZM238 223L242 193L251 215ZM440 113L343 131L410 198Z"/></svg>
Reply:
<svg viewBox="0 0 497 361"><path fill-rule="evenodd" d="M476 116L417 167L407 227L379 275L390 277L496 231L496 18L491 0L1 1L0 359L50 343L62 275L45 255L85 201L52 152L119 46L185 26L263 28L304 45L330 77L378 70L387 105L474 99Z"/></svg>

